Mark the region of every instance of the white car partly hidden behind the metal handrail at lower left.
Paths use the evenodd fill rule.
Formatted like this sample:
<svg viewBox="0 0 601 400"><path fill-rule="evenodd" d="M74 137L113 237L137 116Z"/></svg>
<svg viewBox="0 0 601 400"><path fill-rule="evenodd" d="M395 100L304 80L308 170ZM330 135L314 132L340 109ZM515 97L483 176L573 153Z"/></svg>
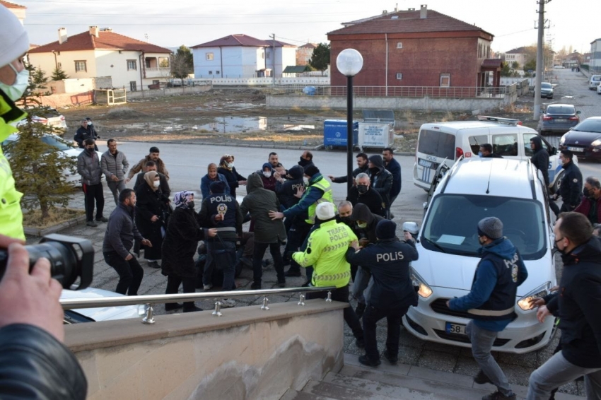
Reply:
<svg viewBox="0 0 601 400"><path fill-rule="evenodd" d="M92 299L120 297L119 293L97 288L86 288L83 290L66 290L61 293L64 299ZM65 310L64 324L78 324L81 322L110 321L112 319L139 318L144 315L144 306L123 305L120 307L78 308L76 310Z"/></svg>

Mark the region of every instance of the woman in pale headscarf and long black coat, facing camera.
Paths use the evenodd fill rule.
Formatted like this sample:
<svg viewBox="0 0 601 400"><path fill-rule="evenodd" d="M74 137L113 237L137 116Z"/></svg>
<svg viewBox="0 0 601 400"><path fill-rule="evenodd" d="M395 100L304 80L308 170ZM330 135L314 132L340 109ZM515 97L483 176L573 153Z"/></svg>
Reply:
<svg viewBox="0 0 601 400"><path fill-rule="evenodd" d="M151 268L161 268L156 260L161 259L161 245L171 211L169 199L161 192L160 184L158 173L148 171L144 174L144 184L136 190L136 226L152 243L152 247L144 247L144 257Z"/></svg>

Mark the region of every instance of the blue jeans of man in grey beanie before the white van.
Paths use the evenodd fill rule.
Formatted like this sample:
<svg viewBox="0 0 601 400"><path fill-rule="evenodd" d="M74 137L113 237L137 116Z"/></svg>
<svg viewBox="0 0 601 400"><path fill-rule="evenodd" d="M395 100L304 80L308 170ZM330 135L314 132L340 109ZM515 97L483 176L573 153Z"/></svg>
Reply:
<svg viewBox="0 0 601 400"><path fill-rule="evenodd" d="M507 377L494 360L491 354L491 348L498 335L498 332L482 329L474 324L474 320L469 321L465 327L465 332L472 342L472 355L474 360L480 366L484 374L489 377L489 380L498 388L498 391L505 396L511 396L513 391L509 386Z"/></svg>

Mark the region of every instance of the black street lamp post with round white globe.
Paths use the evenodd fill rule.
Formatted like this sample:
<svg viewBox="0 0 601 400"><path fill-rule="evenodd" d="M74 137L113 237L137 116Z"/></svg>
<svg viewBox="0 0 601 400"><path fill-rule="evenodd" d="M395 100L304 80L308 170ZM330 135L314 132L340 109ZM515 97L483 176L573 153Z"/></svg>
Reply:
<svg viewBox="0 0 601 400"><path fill-rule="evenodd" d="M336 58L336 67L346 76L346 193L353 185L353 76L363 67L363 57L356 49L344 49Z"/></svg>

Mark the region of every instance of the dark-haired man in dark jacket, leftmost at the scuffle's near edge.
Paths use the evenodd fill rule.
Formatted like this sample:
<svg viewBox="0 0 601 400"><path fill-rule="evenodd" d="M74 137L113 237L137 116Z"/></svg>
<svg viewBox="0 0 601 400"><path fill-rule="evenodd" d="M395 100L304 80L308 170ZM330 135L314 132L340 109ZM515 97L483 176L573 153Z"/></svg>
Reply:
<svg viewBox="0 0 601 400"><path fill-rule="evenodd" d="M144 239L134 223L134 207L136 193L132 189L123 189L119 193L119 205L112 211L107 223L105 240L103 241L103 256L108 265L112 266L119 275L115 292L122 295L138 295L138 289L144 269L129 252L134 245L134 239L142 245L152 247L150 240Z"/></svg>

